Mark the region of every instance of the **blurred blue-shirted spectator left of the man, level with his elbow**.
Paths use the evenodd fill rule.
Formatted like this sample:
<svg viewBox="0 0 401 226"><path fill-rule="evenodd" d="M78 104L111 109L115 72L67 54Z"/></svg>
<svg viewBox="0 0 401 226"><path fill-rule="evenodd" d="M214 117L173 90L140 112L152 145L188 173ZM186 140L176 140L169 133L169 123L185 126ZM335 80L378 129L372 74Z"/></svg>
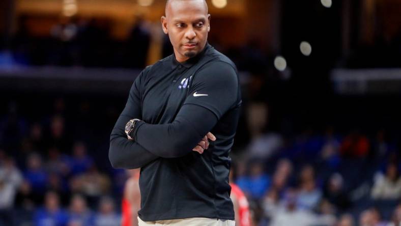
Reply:
<svg viewBox="0 0 401 226"><path fill-rule="evenodd" d="M93 166L93 159L87 154L87 146L84 143L75 142L72 152L73 156L70 160L72 175L80 175Z"/></svg>

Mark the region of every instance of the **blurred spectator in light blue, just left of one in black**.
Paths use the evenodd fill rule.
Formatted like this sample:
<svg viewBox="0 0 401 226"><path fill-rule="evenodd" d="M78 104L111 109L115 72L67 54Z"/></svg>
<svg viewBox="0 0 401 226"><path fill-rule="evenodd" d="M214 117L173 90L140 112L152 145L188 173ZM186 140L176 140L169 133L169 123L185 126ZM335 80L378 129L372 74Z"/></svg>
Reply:
<svg viewBox="0 0 401 226"><path fill-rule="evenodd" d="M298 189L298 206L302 209L312 210L316 208L322 197L322 191L316 185L314 170L311 165L306 165L300 173Z"/></svg>

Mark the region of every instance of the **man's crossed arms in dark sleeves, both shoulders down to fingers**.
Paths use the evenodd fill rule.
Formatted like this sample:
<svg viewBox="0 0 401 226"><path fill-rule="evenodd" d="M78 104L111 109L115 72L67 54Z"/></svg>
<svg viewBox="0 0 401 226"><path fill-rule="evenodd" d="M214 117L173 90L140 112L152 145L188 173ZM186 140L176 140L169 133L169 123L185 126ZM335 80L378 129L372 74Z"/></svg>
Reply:
<svg viewBox="0 0 401 226"><path fill-rule="evenodd" d="M138 168L159 157L177 158L191 150L202 154L209 145L208 138L215 139L208 132L237 100L238 80L235 70L221 62L209 65L197 77L189 93L197 91L209 96L190 95L172 123L137 122L132 133L134 140L128 140L125 124L131 119L142 119L138 92L140 79L135 80L127 104L110 135L109 160L113 167Z"/></svg>

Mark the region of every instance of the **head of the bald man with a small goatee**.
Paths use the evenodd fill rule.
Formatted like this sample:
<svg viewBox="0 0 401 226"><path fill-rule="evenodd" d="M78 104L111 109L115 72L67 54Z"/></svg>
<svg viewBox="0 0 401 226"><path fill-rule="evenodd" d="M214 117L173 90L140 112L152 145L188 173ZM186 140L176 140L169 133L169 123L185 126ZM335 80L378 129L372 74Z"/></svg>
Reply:
<svg viewBox="0 0 401 226"><path fill-rule="evenodd" d="M205 47L210 15L204 0L170 0L161 22L164 33L173 44L177 61L186 61Z"/></svg>

